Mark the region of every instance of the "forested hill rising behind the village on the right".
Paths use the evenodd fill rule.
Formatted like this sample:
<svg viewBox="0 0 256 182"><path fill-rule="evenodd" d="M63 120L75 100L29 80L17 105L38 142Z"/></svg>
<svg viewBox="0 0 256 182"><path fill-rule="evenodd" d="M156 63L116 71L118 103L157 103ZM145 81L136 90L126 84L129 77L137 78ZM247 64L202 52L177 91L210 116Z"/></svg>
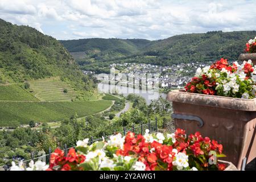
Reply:
<svg viewBox="0 0 256 182"><path fill-rule="evenodd" d="M256 36L256 31L184 34L161 40L143 49L142 55L156 56L163 64L188 61L213 61L220 57L237 60L246 42Z"/></svg>

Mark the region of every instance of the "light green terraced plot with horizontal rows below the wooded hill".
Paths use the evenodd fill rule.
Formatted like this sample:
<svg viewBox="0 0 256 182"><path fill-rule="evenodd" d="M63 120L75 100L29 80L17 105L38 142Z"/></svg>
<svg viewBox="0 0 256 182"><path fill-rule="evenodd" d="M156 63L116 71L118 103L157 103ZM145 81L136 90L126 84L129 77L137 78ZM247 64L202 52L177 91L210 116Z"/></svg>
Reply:
<svg viewBox="0 0 256 182"><path fill-rule="evenodd" d="M43 80L30 81L30 87L34 95L40 101L71 101L76 97L76 91L59 78L47 78ZM67 93L64 93L67 89Z"/></svg>

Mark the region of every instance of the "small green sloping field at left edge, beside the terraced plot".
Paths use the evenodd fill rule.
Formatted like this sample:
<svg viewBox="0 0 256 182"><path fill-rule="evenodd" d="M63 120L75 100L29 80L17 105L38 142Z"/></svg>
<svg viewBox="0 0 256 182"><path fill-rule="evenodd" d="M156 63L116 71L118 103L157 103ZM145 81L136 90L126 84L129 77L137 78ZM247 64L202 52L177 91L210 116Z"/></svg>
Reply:
<svg viewBox="0 0 256 182"><path fill-rule="evenodd" d="M8 101L39 101L18 84L0 85L0 100Z"/></svg>

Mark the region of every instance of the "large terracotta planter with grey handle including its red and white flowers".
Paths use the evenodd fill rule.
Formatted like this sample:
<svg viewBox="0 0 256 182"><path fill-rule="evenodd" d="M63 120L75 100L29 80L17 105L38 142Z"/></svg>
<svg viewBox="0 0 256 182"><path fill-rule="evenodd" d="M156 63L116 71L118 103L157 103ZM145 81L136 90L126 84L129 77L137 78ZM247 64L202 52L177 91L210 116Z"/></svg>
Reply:
<svg viewBox="0 0 256 182"><path fill-rule="evenodd" d="M167 96L176 127L220 141L238 169L256 157L255 71L251 60L229 65L221 59L197 69L185 89Z"/></svg>

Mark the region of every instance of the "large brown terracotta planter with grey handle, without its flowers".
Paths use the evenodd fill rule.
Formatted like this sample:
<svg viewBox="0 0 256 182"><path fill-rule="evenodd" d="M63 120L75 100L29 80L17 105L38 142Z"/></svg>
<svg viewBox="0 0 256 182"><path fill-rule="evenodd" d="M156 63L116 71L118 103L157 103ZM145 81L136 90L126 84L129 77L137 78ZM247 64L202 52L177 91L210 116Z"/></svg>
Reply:
<svg viewBox="0 0 256 182"><path fill-rule="evenodd" d="M256 157L256 99L245 100L172 90L176 127L187 133L200 131L224 146L224 160L238 169ZM243 164L243 165L242 165Z"/></svg>

